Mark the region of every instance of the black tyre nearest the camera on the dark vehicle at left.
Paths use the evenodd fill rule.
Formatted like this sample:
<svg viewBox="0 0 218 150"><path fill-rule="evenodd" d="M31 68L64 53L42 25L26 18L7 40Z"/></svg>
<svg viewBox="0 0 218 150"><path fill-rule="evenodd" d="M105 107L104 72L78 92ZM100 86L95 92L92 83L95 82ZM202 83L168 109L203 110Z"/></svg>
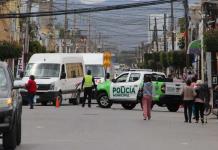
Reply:
<svg viewBox="0 0 218 150"><path fill-rule="evenodd" d="M12 129L3 133L3 147L6 150L14 150L17 146L17 125L15 124Z"/></svg>

